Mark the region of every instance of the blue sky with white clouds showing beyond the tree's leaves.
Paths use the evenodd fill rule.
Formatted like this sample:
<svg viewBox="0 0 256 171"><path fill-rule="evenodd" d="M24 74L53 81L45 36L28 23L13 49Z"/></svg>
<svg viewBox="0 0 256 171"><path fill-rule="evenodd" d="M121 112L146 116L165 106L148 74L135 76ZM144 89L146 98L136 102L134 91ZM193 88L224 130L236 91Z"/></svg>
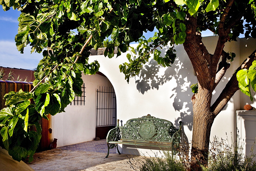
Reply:
<svg viewBox="0 0 256 171"><path fill-rule="evenodd" d="M15 35L18 31L18 17L20 12L16 9L4 11L0 7L0 66L10 68L34 69L42 55L38 53L30 54L30 47L24 49L24 54L20 54L15 45ZM202 33L203 36L212 36L210 31ZM153 36L147 32L146 38Z"/></svg>

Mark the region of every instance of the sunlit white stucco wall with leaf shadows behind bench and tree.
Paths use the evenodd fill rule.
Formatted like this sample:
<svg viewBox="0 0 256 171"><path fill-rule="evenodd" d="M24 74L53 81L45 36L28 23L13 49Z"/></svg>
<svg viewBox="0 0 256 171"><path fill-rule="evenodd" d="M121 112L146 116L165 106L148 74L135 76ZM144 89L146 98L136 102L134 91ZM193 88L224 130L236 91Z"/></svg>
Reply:
<svg viewBox="0 0 256 171"><path fill-rule="evenodd" d="M218 37L210 36L204 37L203 42L210 53L214 53L215 46L217 44ZM246 42L244 38L242 43ZM240 65L240 56L244 55L240 50L241 39L238 41L227 42L224 50L226 52L234 52L236 58L232 62L228 72L223 77L222 81L216 87L213 93L212 103L217 99L221 93L223 87L226 85L234 71ZM132 45L134 47L137 44ZM249 46L249 45L248 45ZM255 44L246 51L255 49ZM163 48L164 51L168 47ZM124 74L120 73L119 65L127 62L126 54L122 54L118 58L105 58L104 56L93 56L91 61L97 59L101 65L100 71L104 73L111 83L116 92L117 100L117 119L123 121L123 124L136 117L141 117L147 114L152 116L169 120L178 127L179 121L183 122L182 127L182 143L191 142L192 128L193 128L193 109L191 103L190 86L193 83L197 83L196 76L194 74L193 67L182 45L175 47L177 51L177 59L172 67L163 68L157 66L157 63L150 59L149 62L142 69L141 74L130 79L129 84L124 79ZM252 51L251 51L252 52ZM248 52L251 54L251 52ZM228 137L232 138L236 132L236 110L240 110L240 92L236 92L231 98L227 106L216 117L211 130L211 141L216 135L218 137L226 138L226 132ZM121 146L121 153L129 154L129 151L136 151L132 149L132 146ZM148 150L147 150L148 151ZM144 150L142 151L145 152Z"/></svg>

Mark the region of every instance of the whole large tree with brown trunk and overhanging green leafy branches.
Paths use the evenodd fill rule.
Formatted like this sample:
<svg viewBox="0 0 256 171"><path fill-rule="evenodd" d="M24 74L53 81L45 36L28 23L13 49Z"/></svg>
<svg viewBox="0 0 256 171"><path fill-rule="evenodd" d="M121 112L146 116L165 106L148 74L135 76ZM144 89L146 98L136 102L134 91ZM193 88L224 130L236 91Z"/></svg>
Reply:
<svg viewBox="0 0 256 171"><path fill-rule="evenodd" d="M35 72L35 91L9 93L5 97L7 108L0 113L3 144L15 159L34 154L40 135L29 131L31 125L40 130L37 124L40 117L63 112L75 94L81 95L81 72L94 74L99 68L97 61L88 63L88 50L97 49L111 35L114 43L104 52L109 58L114 56L114 45L118 45L119 56L128 50L131 42L139 41L138 55L128 54L130 63L119 66L128 82L140 73L151 53L159 65L170 66L176 58L174 44L183 44L198 80L198 90L192 98L192 156L206 163L212 123L239 90L233 74L211 105L212 92L230 67L229 60L232 62L235 56L223 48L227 41L236 41L245 30L246 37L256 37L255 1L0 0L0 4L4 10L13 7L22 12L15 37L18 50L23 52L30 45L32 52L43 51L44 56ZM145 40L143 33L154 28L158 33ZM72 32L73 29L78 33ZM201 31L207 29L218 35L214 54L202 42ZM162 57L157 47L168 44L170 48ZM236 72L249 69L255 59L256 50ZM16 155L15 151L22 153Z"/></svg>

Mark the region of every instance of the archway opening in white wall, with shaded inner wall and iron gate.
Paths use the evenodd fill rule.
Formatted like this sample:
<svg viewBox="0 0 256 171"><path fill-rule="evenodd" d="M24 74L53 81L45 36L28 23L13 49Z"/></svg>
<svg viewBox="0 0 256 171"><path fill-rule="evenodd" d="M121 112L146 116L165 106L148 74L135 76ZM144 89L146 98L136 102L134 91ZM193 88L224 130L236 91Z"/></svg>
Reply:
<svg viewBox="0 0 256 171"><path fill-rule="evenodd" d="M115 127L116 100L109 79L100 72L95 75L82 75L82 79L82 97L75 97L74 102L65 108L65 112L51 116L50 142L57 138L57 147L92 141L96 137L96 129L102 134L97 136L105 139L108 131ZM98 101L101 104L98 104Z"/></svg>

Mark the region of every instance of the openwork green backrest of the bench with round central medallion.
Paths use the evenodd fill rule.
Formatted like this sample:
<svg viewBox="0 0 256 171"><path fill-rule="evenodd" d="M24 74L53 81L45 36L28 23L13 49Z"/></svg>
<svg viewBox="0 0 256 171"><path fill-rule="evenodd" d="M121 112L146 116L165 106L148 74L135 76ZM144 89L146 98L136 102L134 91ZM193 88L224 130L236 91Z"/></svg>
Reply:
<svg viewBox="0 0 256 171"><path fill-rule="evenodd" d="M119 126L121 139L130 140L152 140L170 142L174 129L173 123L159 119L148 114L139 118L130 119Z"/></svg>

